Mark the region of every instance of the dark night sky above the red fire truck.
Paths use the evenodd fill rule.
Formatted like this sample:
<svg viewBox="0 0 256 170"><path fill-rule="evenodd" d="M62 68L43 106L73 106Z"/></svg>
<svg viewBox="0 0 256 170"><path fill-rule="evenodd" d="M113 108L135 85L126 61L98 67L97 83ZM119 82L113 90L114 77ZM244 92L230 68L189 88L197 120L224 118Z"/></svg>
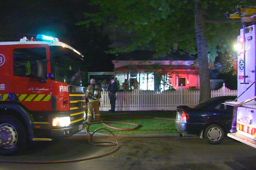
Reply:
<svg viewBox="0 0 256 170"><path fill-rule="evenodd" d="M92 10L86 0L0 0L0 41L30 39L37 34L58 37L82 52L87 71L113 71L115 56L105 51L113 44L99 28L76 23L84 20L83 12Z"/></svg>

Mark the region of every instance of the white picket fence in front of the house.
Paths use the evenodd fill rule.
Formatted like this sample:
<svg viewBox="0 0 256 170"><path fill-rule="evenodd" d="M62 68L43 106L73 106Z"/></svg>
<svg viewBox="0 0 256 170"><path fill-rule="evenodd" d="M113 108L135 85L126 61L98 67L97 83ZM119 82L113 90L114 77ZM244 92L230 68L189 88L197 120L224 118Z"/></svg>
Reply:
<svg viewBox="0 0 256 170"><path fill-rule="evenodd" d="M211 91L211 97L237 95L237 90L223 87ZM100 111L110 109L107 92L101 93ZM132 90L116 93L116 111L176 110L177 105L195 106L199 103L200 90L170 90L163 92Z"/></svg>

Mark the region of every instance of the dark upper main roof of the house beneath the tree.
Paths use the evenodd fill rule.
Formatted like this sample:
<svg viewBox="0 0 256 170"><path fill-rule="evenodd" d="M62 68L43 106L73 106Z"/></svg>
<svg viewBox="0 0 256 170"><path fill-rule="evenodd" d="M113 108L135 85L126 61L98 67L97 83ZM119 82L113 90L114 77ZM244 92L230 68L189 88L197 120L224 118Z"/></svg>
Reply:
<svg viewBox="0 0 256 170"><path fill-rule="evenodd" d="M191 56L182 51L176 51L171 54L168 54L165 57L154 57L157 54L155 51L150 50L134 50L125 54L122 54L120 57L114 59L115 60L196 60L197 57Z"/></svg>

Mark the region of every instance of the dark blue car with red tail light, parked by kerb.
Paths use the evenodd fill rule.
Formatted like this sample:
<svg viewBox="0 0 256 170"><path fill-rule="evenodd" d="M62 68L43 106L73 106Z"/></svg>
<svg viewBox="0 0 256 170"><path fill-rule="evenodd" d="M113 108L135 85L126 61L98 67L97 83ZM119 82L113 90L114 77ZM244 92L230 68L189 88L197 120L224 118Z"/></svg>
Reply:
<svg viewBox="0 0 256 170"><path fill-rule="evenodd" d="M176 129L182 134L197 135L210 144L219 144L229 132L233 106L224 104L237 96L219 96L195 107L177 106Z"/></svg>

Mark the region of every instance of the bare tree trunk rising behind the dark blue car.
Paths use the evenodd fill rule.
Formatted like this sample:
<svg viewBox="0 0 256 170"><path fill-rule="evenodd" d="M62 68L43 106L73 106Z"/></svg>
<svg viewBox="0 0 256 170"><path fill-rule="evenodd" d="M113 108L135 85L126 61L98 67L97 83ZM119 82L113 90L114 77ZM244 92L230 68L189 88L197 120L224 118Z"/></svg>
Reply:
<svg viewBox="0 0 256 170"><path fill-rule="evenodd" d="M195 33L200 76L200 101L211 98L210 73L208 66L208 47L205 37L205 25L200 1L195 2Z"/></svg>

